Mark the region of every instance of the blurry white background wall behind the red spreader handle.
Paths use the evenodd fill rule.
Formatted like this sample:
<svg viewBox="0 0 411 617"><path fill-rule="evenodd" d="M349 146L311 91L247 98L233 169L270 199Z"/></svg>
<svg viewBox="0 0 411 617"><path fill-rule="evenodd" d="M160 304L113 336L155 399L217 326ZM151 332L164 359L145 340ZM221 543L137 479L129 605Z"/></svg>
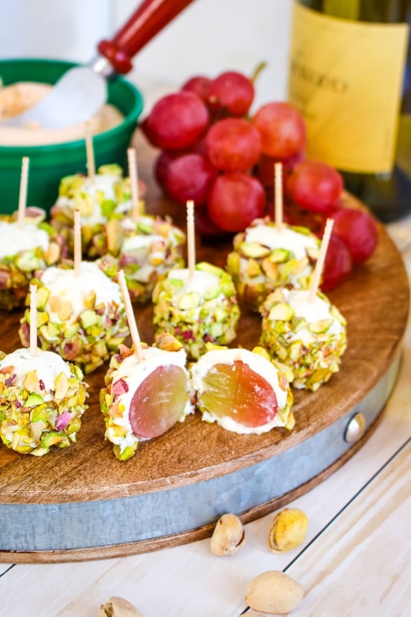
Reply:
<svg viewBox="0 0 411 617"><path fill-rule="evenodd" d="M167 0L173 1L173 0ZM188 77L235 69L251 74L265 60L255 106L286 93L292 0L195 0L142 49L129 79L146 110ZM101 38L128 19L139 0L1 0L0 58L87 62Z"/></svg>

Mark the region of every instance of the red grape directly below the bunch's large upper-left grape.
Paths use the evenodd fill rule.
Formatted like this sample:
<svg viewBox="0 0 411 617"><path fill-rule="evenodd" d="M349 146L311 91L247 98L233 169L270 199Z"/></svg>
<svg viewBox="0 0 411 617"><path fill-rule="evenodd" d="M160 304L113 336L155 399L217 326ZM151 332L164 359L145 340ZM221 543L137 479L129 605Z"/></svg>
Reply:
<svg viewBox="0 0 411 617"><path fill-rule="evenodd" d="M169 160L164 173L164 189L179 204L192 199L196 205L206 203L217 170L202 154L188 152Z"/></svg>

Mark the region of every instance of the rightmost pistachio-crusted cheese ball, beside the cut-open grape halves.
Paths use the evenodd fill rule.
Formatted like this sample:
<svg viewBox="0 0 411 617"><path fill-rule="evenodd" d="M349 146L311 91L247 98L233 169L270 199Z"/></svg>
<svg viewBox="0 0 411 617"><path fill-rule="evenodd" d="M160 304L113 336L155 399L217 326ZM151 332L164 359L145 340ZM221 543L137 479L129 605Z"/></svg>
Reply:
<svg viewBox="0 0 411 617"><path fill-rule="evenodd" d="M290 367L293 387L315 391L339 370L347 322L321 291L312 301L309 295L303 289L271 293L260 308L260 344Z"/></svg>

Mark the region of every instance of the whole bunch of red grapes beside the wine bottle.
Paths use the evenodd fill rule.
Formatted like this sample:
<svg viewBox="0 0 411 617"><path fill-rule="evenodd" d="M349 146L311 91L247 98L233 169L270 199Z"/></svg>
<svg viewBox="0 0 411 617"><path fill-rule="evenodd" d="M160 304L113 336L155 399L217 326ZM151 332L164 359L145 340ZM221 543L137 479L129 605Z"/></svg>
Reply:
<svg viewBox="0 0 411 617"><path fill-rule="evenodd" d="M245 230L273 217L274 166L282 162L284 221L321 234L334 226L322 289L334 289L377 244L375 219L343 205L343 178L308 160L306 123L292 105L273 101L251 112L253 80L237 71L192 77L153 106L141 128L161 152L155 178L171 199L196 206L203 237Z"/></svg>

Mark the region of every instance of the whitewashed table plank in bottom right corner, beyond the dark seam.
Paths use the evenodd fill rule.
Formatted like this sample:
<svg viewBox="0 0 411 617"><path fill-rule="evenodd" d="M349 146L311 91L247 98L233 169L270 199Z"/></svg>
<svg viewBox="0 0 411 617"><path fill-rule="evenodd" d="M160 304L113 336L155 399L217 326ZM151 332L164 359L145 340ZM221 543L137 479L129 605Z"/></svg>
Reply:
<svg viewBox="0 0 411 617"><path fill-rule="evenodd" d="M410 615L411 441L288 568L303 585L297 617ZM375 551L378 547L378 551Z"/></svg>

